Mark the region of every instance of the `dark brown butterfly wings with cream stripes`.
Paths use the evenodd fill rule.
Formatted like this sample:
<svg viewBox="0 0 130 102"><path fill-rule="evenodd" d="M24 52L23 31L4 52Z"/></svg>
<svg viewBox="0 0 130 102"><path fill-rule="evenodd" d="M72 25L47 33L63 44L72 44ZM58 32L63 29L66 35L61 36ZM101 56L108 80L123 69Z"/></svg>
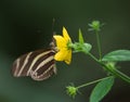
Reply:
<svg viewBox="0 0 130 102"><path fill-rule="evenodd" d="M44 80L56 74L54 50L37 50L20 56L14 63L14 77L30 76L35 80Z"/></svg>

